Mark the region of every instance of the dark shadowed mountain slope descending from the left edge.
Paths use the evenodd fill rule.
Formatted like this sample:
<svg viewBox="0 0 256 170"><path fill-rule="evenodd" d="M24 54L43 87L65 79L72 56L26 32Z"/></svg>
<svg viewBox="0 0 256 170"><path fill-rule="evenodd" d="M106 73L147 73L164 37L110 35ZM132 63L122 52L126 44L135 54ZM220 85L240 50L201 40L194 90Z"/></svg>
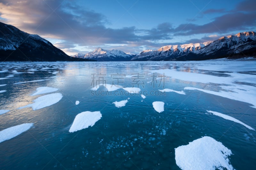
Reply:
<svg viewBox="0 0 256 170"><path fill-rule="evenodd" d="M0 22L0 61L77 61L38 35ZM88 61L79 59L80 61Z"/></svg>

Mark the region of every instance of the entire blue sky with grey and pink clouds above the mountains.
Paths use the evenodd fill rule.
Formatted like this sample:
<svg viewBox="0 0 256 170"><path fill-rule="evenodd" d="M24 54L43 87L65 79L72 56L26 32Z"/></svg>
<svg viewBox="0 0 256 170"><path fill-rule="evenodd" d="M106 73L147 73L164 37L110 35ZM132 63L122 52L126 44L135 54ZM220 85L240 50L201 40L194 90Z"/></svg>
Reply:
<svg viewBox="0 0 256 170"><path fill-rule="evenodd" d="M256 0L0 0L0 21L68 55L97 47L137 54L256 31Z"/></svg>

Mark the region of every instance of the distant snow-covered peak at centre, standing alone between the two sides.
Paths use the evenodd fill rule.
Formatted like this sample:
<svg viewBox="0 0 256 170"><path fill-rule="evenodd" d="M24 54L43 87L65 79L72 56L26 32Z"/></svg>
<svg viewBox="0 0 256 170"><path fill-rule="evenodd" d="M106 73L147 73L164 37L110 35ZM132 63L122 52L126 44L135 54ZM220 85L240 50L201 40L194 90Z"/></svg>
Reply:
<svg viewBox="0 0 256 170"><path fill-rule="evenodd" d="M109 51L99 47L85 55L77 54L75 55L75 57L92 59L97 61L130 61L133 56L126 54L120 50L112 49Z"/></svg>

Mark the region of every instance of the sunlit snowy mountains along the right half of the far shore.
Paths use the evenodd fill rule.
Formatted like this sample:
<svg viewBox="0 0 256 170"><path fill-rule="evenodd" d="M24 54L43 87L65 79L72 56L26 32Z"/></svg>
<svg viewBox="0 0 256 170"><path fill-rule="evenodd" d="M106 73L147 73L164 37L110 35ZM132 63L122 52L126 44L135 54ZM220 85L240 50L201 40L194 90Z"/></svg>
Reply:
<svg viewBox="0 0 256 170"><path fill-rule="evenodd" d="M255 32L237 33L216 41L196 44L168 45L158 50L142 51L133 61L186 61L216 58L241 58L256 55Z"/></svg>

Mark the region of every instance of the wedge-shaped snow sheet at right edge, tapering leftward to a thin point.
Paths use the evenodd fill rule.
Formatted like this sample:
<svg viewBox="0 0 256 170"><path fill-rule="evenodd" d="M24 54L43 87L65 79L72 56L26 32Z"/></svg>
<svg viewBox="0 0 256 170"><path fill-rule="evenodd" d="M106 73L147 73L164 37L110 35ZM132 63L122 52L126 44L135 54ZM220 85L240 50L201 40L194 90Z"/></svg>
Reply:
<svg viewBox="0 0 256 170"><path fill-rule="evenodd" d="M225 92L225 91L210 91L210 90L204 90L204 89L199 89L195 87L185 87L185 90L198 90L201 92L209 93L209 94L214 94L217 96L225 97L228 99L232 100L237 100L237 101L243 101L246 103L250 103L256 108L256 87L250 86L250 85L237 85L236 88L232 88L233 86L221 86L222 88L229 90L230 92ZM243 90L244 89L244 90ZM231 92L234 91L234 92Z"/></svg>

